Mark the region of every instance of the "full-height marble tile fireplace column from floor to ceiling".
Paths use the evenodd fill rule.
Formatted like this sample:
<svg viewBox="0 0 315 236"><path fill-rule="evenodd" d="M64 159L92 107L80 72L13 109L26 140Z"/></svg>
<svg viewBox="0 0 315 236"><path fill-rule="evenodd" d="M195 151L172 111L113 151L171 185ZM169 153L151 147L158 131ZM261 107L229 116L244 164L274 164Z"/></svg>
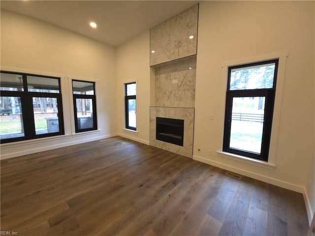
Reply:
<svg viewBox="0 0 315 236"><path fill-rule="evenodd" d="M155 68L150 107L150 145L190 158L197 31L198 4L150 29L150 66Z"/></svg>

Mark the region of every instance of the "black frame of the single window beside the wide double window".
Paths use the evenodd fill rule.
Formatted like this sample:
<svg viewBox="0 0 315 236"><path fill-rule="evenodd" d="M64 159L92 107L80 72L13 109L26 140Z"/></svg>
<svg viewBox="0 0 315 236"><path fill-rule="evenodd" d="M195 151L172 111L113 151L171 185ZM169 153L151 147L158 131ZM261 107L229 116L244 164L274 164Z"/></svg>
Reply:
<svg viewBox="0 0 315 236"><path fill-rule="evenodd" d="M93 84L93 95L90 95L90 94L75 94L75 93L73 93L73 81L85 82L85 83L91 83L91 84ZM95 82L93 82L93 81L84 81L84 80L72 79L72 80L71 80L71 86L72 86L72 95L73 95L73 113L74 113L74 128L75 128L75 133L82 133L82 132L86 132L86 131L97 130L97 112L96 112ZM82 128L79 128L76 99L92 99L92 107L93 107L93 117L92 117L92 121L93 121L93 127L91 127L91 128L83 128L83 129L82 129Z"/></svg>

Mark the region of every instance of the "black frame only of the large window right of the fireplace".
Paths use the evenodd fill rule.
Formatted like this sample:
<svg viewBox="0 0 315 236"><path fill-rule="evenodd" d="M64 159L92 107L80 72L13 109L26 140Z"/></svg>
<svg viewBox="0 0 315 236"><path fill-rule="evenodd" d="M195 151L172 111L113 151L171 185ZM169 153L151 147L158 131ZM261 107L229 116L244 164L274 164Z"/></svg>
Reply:
<svg viewBox="0 0 315 236"><path fill-rule="evenodd" d="M264 65L264 64L270 64L270 63L275 63L274 80L273 80L272 88L230 90L230 79L231 79L232 69ZM246 64L228 67L222 151L268 162L271 129L272 129L272 119L273 119L275 96L276 96L278 66L279 66L279 59L270 59L270 60L263 60L259 62L246 63ZM230 145L230 135L231 135L233 98L234 97L262 97L262 96L265 97L265 107L264 107L264 120L263 120L263 131L262 131L262 138L261 138L260 154L246 151L246 150L230 148L229 145Z"/></svg>

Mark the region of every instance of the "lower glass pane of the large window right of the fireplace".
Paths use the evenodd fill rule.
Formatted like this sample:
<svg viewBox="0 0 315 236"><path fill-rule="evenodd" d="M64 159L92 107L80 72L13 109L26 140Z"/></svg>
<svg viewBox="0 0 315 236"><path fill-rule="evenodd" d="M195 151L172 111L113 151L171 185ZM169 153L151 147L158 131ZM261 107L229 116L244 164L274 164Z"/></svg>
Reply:
<svg viewBox="0 0 315 236"><path fill-rule="evenodd" d="M230 148L260 154L265 97L234 97Z"/></svg>

